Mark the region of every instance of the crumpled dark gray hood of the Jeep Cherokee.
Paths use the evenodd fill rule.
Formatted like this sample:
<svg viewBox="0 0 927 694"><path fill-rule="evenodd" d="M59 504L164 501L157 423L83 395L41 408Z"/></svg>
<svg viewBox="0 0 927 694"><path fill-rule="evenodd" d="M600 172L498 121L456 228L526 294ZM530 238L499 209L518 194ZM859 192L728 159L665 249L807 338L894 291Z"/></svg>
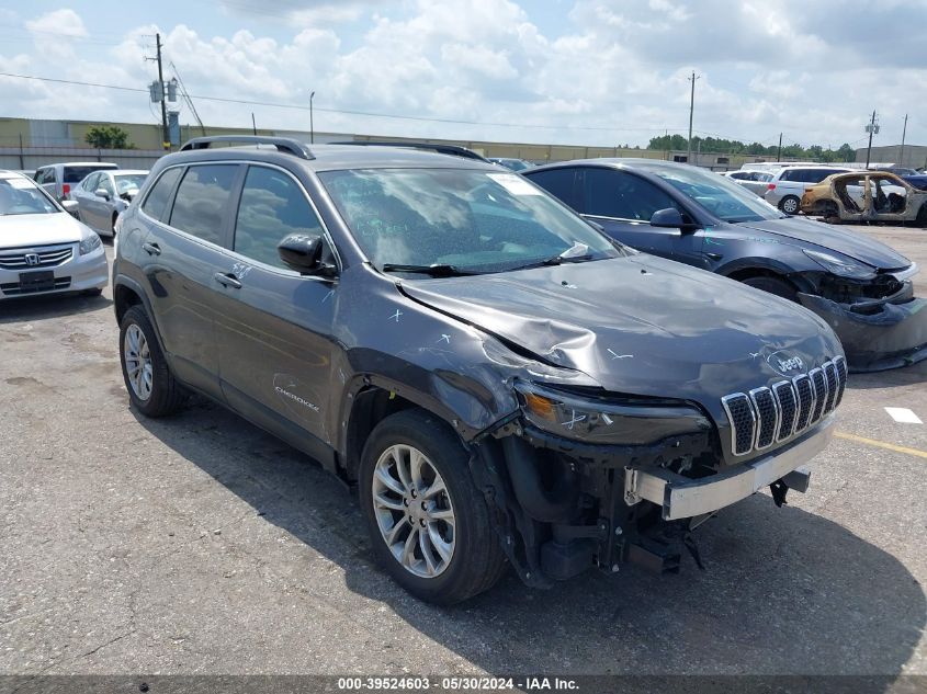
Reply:
<svg viewBox="0 0 927 694"><path fill-rule="evenodd" d="M402 285L410 298L608 390L716 402L841 354L800 306L680 263L637 254Z"/></svg>

